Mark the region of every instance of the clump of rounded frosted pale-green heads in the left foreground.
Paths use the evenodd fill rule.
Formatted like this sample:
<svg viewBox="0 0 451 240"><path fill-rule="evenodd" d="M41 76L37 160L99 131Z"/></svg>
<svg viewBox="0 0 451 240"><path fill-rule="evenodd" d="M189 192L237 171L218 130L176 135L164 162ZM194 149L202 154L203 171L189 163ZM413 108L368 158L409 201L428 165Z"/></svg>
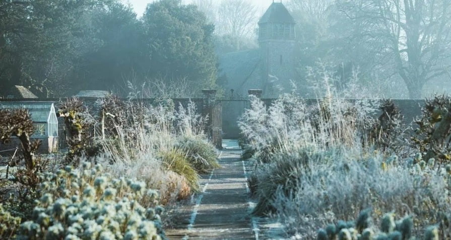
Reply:
<svg viewBox="0 0 451 240"><path fill-rule="evenodd" d="M43 176L42 197L32 219L20 225L18 239L165 238L163 208L139 203L155 202L156 191L133 179L112 179L99 165L81 166Z"/></svg>

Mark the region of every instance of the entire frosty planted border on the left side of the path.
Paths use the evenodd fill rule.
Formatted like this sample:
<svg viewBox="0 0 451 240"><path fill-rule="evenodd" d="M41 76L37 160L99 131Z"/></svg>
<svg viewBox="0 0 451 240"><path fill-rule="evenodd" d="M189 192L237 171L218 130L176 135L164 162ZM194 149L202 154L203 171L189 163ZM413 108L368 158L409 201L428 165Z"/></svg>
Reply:
<svg viewBox="0 0 451 240"><path fill-rule="evenodd" d="M0 110L1 140L18 137L24 161L1 181L1 239L165 239L165 208L219 167L192 102L108 96L97 111L79 99L58 109L68 150L52 155L37 153L26 110Z"/></svg>

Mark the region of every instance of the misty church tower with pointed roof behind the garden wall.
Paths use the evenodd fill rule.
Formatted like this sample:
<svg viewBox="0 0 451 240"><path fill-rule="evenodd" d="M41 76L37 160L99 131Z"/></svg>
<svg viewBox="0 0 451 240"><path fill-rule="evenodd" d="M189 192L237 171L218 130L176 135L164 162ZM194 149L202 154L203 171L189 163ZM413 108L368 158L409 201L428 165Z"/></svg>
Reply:
<svg viewBox="0 0 451 240"><path fill-rule="evenodd" d="M285 6L274 2L259 21L263 90L267 97L291 90L296 67L295 25Z"/></svg>

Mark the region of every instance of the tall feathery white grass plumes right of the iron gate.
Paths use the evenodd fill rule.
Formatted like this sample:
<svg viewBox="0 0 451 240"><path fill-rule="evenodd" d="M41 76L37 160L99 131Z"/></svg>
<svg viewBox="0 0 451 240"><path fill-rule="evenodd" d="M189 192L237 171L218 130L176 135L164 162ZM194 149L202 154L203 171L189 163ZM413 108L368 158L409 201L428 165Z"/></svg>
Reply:
<svg viewBox="0 0 451 240"><path fill-rule="evenodd" d="M251 97L250 105L239 126L263 163L270 162L275 152L361 144L364 129L372 124L373 109L365 102L325 98L307 106L295 95L284 95L268 107Z"/></svg>

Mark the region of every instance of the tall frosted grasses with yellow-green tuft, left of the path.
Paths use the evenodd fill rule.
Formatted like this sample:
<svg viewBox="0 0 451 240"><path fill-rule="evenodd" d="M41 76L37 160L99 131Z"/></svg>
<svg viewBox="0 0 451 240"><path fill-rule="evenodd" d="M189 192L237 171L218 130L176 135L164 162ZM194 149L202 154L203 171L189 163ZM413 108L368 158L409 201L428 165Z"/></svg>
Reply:
<svg viewBox="0 0 451 240"><path fill-rule="evenodd" d="M130 123L116 126L118 137L103 141L103 159L114 176L137 177L160 191L160 202L184 199L199 188L198 172L218 167L215 147L203 134L205 118L188 103L177 109L172 100L156 106L136 103ZM191 165L191 166L190 166ZM194 168L194 169L193 169Z"/></svg>

